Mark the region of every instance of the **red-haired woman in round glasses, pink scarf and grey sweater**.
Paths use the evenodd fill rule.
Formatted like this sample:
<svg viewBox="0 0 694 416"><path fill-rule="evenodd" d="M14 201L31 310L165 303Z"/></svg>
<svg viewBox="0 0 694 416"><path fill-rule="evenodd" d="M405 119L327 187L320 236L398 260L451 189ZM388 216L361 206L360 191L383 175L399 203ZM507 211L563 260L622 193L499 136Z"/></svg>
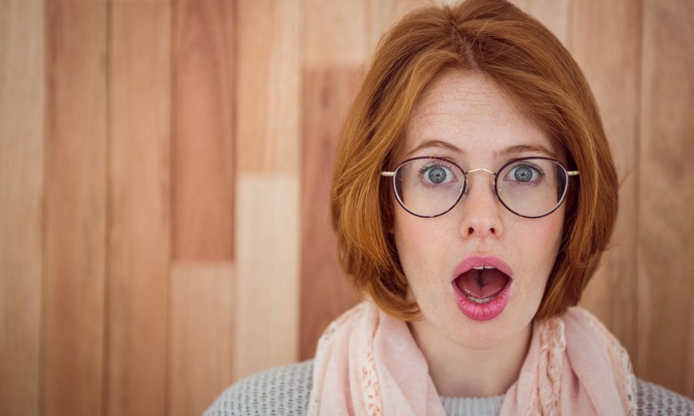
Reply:
<svg viewBox="0 0 694 416"><path fill-rule="evenodd" d="M331 204L365 302L315 360L237 383L207 414L694 412L636 380L575 307L615 223L617 175L582 72L506 1L391 29L343 128Z"/></svg>

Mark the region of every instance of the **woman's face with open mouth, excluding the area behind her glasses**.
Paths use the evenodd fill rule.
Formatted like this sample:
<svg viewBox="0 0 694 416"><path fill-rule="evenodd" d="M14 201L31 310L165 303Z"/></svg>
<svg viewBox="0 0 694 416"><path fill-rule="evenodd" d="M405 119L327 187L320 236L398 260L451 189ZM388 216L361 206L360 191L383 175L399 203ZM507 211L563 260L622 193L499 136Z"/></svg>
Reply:
<svg viewBox="0 0 694 416"><path fill-rule="evenodd" d="M397 156L398 162L438 156L465 171L494 172L525 156L561 160L549 137L528 123L493 81L457 69L447 69L426 87ZM468 192L440 217L416 217L393 197L395 245L410 298L424 315L413 328L473 349L528 334L564 220L563 205L535 219L511 213L495 196L493 180L484 171L470 173Z"/></svg>

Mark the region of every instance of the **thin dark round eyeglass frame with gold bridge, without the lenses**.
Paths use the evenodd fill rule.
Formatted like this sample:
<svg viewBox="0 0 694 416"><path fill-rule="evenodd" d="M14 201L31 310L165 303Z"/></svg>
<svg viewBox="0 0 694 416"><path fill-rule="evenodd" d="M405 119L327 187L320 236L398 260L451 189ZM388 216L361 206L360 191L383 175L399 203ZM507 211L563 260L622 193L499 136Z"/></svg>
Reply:
<svg viewBox="0 0 694 416"><path fill-rule="evenodd" d="M396 189L396 187L395 187L395 174L398 173L398 170L399 170L400 168L402 168L402 166L404 166L406 163L410 163L410 162L412 162L412 161L416 161L416 160L419 160L419 159L434 159L434 160L439 160L439 161L445 161L446 163L451 163L453 166L455 166L456 168L460 169L460 171L463 173L463 187L462 187L462 190L461 190L460 194L458 195L458 198L455 200L455 202L450 206L450 208L448 208L447 210L443 211L443 213L436 214L436 215L419 215L419 214L417 214L417 213L413 213L410 209L408 209L408 208L405 206L405 203L402 202L402 200L400 199L400 195L398 195L398 192L395 190L395 189ZM512 210L511 208L509 208L509 206L507 206L506 203L504 203L504 200L501 198L501 196L499 196L499 189L498 189L498 187L497 187L497 177L498 177L498 175L499 175L499 172L502 172L502 170L504 170L504 168L506 168L506 166L509 166L509 165L511 165L511 163L516 163L516 162L518 162L518 161L525 161L525 160L531 160L531 159L542 159L542 160L546 160L546 161L551 161L551 162L555 163L556 165L560 166L560 167L564 170L564 172L566 173L566 187L564 188L564 192L563 192L563 194L561 195L561 199L559 199L559 201L557 202L556 206L555 206L554 208L552 208L552 210L549 211L549 213L542 214L542 215L537 215L537 216L535 216L535 217L528 216L528 215L522 215L522 214L516 213L516 211ZM444 215L445 213L448 213L450 210L452 210L453 208L455 208L455 206L458 205L458 203L459 203L460 200L462 199L462 197L463 197L463 195L465 194L465 191L466 191L466 189L467 189L468 174L469 174L469 173L478 172L478 171L480 171L480 170L483 171L483 172L486 172L486 173L490 173L491 175L494 175L494 182L492 182L492 189L494 189L494 194L495 194L495 196L497 197L497 200L498 200L500 203L502 203L502 205L504 206L504 208L506 208L507 210L511 211L511 213L518 215L518 217L530 218L530 219L546 217L547 215L549 215L549 214L551 214L551 213L554 213L554 211L558 210L559 207L561 206L561 204L564 203L564 200L566 199L566 194L567 194L568 189L569 189L569 177L571 177L571 176L577 176L577 175L579 175L579 173L580 173L579 170L568 170L568 169L566 168L566 166L564 166L560 161L558 161L558 160L556 160L556 159L552 159L551 157L546 157L546 156L526 156L526 157L521 157L521 158L518 158L518 159L512 159L512 160L510 160L510 161L504 163L504 165L503 165L501 168L499 168L499 170L497 170L496 172L492 172L492 170L488 170L488 169L485 169L485 168L471 169L471 170L468 170L468 171L466 172L463 168L461 168L461 167L458 165L458 163L455 163L454 161L451 161L450 159L446 159L445 157L438 157L438 156L417 156L417 157L413 157L413 158L407 159L407 160L405 160L405 161L402 161L402 163L400 163L400 164L398 165L398 167L395 168L395 170L393 170L393 171L388 171L388 170L383 170L383 171L381 171L381 176L393 177L393 181L391 182L391 184L392 184L392 186L393 186L393 194L395 194L395 199L398 200L398 204L400 204L400 206L402 207L402 209L406 210L408 213L414 215L415 217L420 217L420 218L435 218L435 217L440 217L441 215Z"/></svg>

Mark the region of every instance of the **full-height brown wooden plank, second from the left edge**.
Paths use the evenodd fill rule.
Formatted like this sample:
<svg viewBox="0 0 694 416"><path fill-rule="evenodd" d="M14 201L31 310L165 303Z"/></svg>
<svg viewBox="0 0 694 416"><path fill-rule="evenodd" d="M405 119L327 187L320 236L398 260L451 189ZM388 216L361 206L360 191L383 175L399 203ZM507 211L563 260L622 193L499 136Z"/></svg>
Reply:
<svg viewBox="0 0 694 416"><path fill-rule="evenodd" d="M41 412L102 410L106 5L48 6Z"/></svg>

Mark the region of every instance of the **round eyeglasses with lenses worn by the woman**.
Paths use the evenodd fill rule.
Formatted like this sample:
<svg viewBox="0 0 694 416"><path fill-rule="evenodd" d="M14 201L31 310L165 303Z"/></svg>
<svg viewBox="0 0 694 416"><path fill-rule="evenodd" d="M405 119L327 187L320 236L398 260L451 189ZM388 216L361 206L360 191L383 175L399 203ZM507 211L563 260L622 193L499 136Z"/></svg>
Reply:
<svg viewBox="0 0 694 416"><path fill-rule="evenodd" d="M468 191L467 176L478 171L494 175L492 187L499 201L525 218L553 213L565 199L569 177L579 174L549 157L513 159L498 172L484 168L466 172L448 159L421 156L381 175L393 177L393 192L402 208L417 217L431 218L452 210Z"/></svg>

